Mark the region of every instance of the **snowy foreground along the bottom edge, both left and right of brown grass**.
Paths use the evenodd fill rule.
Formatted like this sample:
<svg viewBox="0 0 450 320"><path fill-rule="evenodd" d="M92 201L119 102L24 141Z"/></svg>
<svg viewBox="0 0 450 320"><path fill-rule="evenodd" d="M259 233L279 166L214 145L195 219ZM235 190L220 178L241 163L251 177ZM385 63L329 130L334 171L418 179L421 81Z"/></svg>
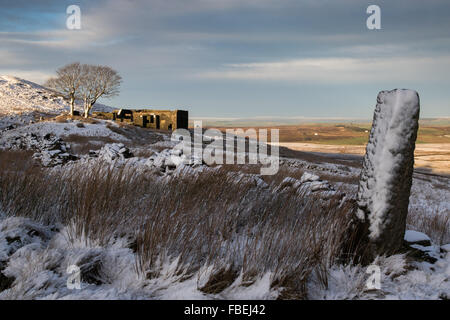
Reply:
<svg viewBox="0 0 450 320"><path fill-rule="evenodd" d="M208 266L181 281L176 260L168 261L157 278L146 279L136 271L136 257L127 239L108 247L71 241L69 228L44 226L25 218L1 218L0 262L7 261L3 277L14 281L0 290L0 299L275 299L271 273L251 285L242 276L219 294L199 290L211 275ZM436 257L434 263L411 261L405 255L380 257L379 290L366 287L367 269L335 265L330 269L328 287L312 277L310 299L449 299L450 248L422 247ZM89 282L81 289L69 289L68 267L77 265ZM101 266L101 272L98 268ZM3 279L3 282L5 282ZM0 279L1 282L1 279Z"/></svg>

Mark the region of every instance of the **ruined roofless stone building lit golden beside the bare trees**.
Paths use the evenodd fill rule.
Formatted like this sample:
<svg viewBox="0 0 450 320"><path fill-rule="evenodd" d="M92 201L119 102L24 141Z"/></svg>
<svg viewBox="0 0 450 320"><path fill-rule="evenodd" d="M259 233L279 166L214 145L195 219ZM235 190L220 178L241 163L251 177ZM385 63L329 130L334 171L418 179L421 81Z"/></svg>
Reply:
<svg viewBox="0 0 450 320"><path fill-rule="evenodd" d="M189 121L188 112L185 110L120 109L113 112L94 112L93 114L98 118L160 130L187 129Z"/></svg>

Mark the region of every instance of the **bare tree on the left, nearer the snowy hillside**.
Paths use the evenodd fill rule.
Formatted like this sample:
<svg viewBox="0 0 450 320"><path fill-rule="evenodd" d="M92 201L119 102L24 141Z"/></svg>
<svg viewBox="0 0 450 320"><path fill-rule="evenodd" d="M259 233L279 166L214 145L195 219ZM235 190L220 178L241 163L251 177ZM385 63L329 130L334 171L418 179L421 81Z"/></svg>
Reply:
<svg viewBox="0 0 450 320"><path fill-rule="evenodd" d="M56 77L47 80L45 86L60 93L70 101L70 115L74 115L75 100L79 97L82 84L82 65L79 62L65 65L56 70Z"/></svg>

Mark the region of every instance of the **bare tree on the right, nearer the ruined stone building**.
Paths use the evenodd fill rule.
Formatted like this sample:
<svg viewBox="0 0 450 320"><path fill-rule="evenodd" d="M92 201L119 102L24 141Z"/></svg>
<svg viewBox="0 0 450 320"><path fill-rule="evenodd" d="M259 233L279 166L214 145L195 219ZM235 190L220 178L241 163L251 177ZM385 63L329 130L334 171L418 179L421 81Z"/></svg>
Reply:
<svg viewBox="0 0 450 320"><path fill-rule="evenodd" d="M84 116L87 118L99 98L119 94L122 77L108 66L82 65L81 74L80 92L84 101Z"/></svg>

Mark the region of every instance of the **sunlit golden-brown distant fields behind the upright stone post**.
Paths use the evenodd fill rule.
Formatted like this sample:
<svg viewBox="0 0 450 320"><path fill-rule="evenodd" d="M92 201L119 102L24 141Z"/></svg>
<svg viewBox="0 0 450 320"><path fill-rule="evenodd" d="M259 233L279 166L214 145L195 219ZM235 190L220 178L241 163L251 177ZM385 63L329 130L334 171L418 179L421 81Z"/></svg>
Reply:
<svg viewBox="0 0 450 320"><path fill-rule="evenodd" d="M221 131L230 128L229 126L210 127ZM251 127L241 128L247 130ZM371 123L324 122L253 128L279 129L280 145L292 150L363 155L369 139ZM271 140L270 134L268 139ZM420 122L415 166L430 172L450 174L450 123L448 120L431 119Z"/></svg>

